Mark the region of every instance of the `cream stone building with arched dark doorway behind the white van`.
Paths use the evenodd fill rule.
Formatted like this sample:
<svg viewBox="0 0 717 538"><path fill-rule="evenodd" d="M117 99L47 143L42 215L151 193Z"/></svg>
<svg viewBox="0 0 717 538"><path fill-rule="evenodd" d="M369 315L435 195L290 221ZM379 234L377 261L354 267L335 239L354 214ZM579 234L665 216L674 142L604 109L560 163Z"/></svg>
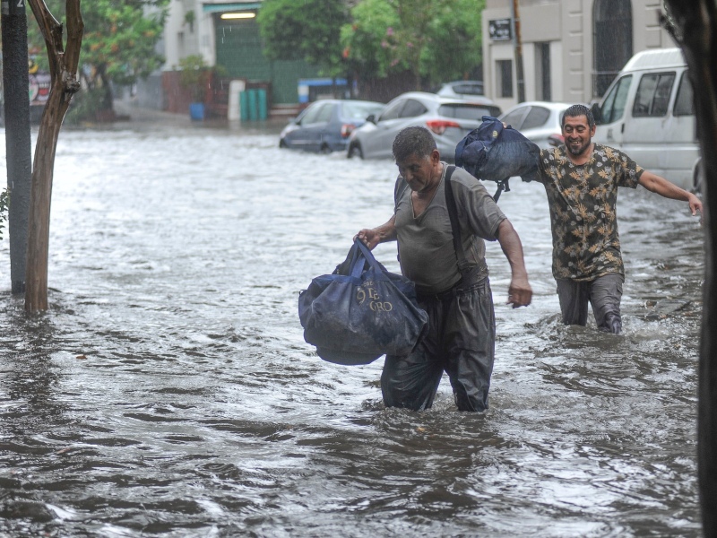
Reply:
<svg viewBox="0 0 717 538"><path fill-rule="evenodd" d="M675 47L660 26L661 0L516 0L525 100L590 103L636 52ZM518 102L513 0L483 11L486 95Z"/></svg>

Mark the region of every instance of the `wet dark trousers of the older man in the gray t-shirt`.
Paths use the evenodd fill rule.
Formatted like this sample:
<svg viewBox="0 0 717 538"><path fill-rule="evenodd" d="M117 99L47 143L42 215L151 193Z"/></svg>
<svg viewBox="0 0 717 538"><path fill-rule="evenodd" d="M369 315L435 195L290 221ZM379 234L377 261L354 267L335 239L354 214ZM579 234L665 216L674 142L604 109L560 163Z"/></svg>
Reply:
<svg viewBox="0 0 717 538"><path fill-rule="evenodd" d="M445 371L461 411L488 409L496 348L496 317L488 278L440 295L420 296L428 334L409 355L387 355L381 391L387 407L414 411L433 404Z"/></svg>

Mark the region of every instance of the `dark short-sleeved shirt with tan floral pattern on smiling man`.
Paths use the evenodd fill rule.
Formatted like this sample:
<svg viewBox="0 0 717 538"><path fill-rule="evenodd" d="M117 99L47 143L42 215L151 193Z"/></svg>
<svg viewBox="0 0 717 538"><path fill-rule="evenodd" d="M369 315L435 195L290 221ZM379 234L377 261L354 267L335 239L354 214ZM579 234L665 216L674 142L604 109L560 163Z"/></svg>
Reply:
<svg viewBox="0 0 717 538"><path fill-rule="evenodd" d="M590 161L574 165L566 146L540 151L553 231L553 276L591 281L625 274L618 236L618 187L637 187L643 173L625 153L596 143Z"/></svg>

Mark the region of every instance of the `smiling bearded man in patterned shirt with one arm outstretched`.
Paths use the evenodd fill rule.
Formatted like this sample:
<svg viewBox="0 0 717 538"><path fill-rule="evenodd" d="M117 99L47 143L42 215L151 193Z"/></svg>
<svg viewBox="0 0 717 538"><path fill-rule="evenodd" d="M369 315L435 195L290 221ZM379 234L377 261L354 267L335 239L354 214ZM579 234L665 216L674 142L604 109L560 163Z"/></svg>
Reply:
<svg viewBox="0 0 717 538"><path fill-rule="evenodd" d="M592 142L595 119L574 105L563 115L565 145L540 152L538 181L545 187L553 233L553 276L565 325L586 325L588 303L601 331L622 330L620 299L625 268L618 236L618 187L647 190L689 203L699 199L619 150Z"/></svg>

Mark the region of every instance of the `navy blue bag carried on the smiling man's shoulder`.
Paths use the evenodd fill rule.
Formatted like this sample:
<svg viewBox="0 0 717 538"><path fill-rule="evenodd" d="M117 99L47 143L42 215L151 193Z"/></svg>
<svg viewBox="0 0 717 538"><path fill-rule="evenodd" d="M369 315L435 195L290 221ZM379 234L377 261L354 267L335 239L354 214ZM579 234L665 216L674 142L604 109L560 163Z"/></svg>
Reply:
<svg viewBox="0 0 717 538"><path fill-rule="evenodd" d="M538 173L540 148L497 117L484 116L477 129L455 147L455 165L473 177L502 181L520 176L531 181Z"/></svg>

